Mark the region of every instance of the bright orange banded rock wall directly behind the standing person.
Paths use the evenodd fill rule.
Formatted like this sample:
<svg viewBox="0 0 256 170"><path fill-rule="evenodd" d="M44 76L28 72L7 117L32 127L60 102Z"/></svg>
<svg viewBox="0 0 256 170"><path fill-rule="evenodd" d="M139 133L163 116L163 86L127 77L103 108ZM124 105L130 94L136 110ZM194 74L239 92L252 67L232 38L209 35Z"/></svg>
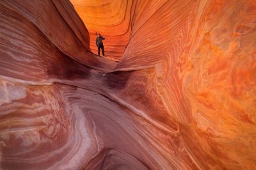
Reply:
<svg viewBox="0 0 256 170"><path fill-rule="evenodd" d="M131 36L132 19L135 1L127 0L94 0L70 1L89 31L90 47L97 54L95 33L104 38L106 58L120 61ZM100 52L101 54L101 52ZM101 54L102 55L102 54Z"/></svg>

